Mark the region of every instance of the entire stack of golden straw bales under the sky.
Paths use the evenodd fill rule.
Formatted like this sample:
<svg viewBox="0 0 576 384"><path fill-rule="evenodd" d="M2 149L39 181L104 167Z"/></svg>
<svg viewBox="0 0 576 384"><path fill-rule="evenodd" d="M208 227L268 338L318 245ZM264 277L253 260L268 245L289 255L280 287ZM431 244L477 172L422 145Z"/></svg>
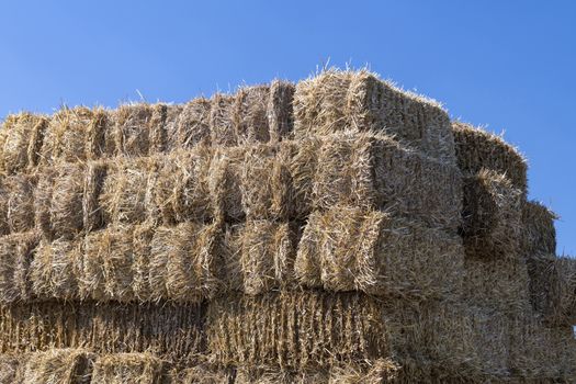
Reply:
<svg viewBox="0 0 576 384"><path fill-rule="evenodd" d="M0 131L0 383L576 377L501 138L368 71Z"/></svg>

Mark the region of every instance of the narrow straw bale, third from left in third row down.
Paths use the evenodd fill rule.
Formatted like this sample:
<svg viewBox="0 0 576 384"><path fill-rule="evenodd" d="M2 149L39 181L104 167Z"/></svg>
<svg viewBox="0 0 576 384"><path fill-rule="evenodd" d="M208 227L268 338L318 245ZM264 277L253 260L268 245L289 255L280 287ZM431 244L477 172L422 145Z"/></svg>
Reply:
<svg viewBox="0 0 576 384"><path fill-rule="evenodd" d="M132 226L112 226L86 236L79 283L82 297L118 302L134 300L132 239Z"/></svg>

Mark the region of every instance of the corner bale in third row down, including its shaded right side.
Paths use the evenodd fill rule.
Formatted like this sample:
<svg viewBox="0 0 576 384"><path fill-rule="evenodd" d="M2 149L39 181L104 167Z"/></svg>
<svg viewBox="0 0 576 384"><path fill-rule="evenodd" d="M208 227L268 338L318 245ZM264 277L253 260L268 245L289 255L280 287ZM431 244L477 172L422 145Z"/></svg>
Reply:
<svg viewBox="0 0 576 384"><path fill-rule="evenodd" d="M310 215L295 261L300 282L330 291L443 297L461 286L459 236L349 206Z"/></svg>

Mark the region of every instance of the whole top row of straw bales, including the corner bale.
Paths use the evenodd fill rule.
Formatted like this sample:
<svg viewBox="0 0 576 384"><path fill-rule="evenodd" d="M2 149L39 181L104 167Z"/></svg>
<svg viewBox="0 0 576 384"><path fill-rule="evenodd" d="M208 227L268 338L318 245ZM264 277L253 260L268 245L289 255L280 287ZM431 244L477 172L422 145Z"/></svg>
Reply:
<svg viewBox="0 0 576 384"><path fill-rule="evenodd" d="M230 147L341 131L381 132L431 158L455 162L450 118L439 104L368 71L328 70L297 86L276 80L185 104L10 115L0 131L0 173L58 161L140 157L199 144Z"/></svg>

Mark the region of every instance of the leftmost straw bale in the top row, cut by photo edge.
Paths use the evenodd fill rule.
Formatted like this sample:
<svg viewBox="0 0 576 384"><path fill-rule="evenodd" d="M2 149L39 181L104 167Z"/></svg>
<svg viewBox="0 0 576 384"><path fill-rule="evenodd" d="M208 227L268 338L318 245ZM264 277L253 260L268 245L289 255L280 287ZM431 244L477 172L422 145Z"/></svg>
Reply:
<svg viewBox="0 0 576 384"><path fill-rule="evenodd" d="M0 173L15 173L38 163L48 118L20 113L9 115L0 128Z"/></svg>

